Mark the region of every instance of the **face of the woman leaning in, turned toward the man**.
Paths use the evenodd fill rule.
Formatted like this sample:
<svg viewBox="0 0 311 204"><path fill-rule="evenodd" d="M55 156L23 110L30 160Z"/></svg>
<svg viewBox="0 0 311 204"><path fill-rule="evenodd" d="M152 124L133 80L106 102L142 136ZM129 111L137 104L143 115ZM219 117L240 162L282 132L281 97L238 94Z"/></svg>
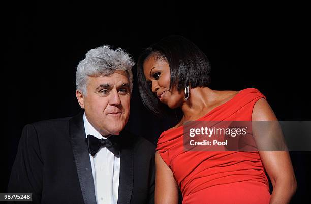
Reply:
<svg viewBox="0 0 311 204"><path fill-rule="evenodd" d="M184 93L182 91L178 93L176 88L169 89L170 66L166 60L157 56L153 54L145 60L143 64L144 75L151 86L152 92L157 94L160 102L172 109L177 108L183 101Z"/></svg>

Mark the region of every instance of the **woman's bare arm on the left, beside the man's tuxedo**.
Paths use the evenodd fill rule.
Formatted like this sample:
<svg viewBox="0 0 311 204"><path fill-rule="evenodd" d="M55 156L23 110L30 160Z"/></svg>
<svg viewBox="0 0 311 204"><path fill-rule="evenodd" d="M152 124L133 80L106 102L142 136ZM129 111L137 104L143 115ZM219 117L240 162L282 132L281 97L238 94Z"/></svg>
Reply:
<svg viewBox="0 0 311 204"><path fill-rule="evenodd" d="M178 185L173 172L163 161L160 154L155 152L155 204L177 204Z"/></svg>

